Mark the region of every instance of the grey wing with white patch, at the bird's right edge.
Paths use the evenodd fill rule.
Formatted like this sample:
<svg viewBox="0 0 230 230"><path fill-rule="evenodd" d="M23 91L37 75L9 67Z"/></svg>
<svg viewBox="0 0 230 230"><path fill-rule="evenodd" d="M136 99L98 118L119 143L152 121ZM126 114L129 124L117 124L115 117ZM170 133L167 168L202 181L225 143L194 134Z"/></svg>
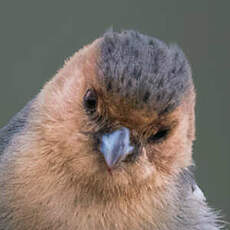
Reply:
<svg viewBox="0 0 230 230"><path fill-rule="evenodd" d="M218 215L207 205L206 198L197 185L191 169L184 170L180 174L177 187L179 194L177 229L221 229Z"/></svg>

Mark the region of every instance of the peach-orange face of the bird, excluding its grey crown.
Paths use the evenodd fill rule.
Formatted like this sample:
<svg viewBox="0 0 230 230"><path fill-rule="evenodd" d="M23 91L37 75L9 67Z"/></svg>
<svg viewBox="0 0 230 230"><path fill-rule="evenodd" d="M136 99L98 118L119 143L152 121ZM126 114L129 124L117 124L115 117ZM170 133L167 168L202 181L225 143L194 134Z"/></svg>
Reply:
<svg viewBox="0 0 230 230"><path fill-rule="evenodd" d="M165 98L161 103L151 91L140 94L142 85L137 88L137 82L134 91L127 88L132 97L123 86L117 90L120 78L114 77L106 87L106 73L100 69L103 41L96 40L75 54L42 92L43 135L56 152L53 161L66 167L82 191L136 194L142 188L161 187L169 176L191 164L193 85L190 82L168 110Z"/></svg>

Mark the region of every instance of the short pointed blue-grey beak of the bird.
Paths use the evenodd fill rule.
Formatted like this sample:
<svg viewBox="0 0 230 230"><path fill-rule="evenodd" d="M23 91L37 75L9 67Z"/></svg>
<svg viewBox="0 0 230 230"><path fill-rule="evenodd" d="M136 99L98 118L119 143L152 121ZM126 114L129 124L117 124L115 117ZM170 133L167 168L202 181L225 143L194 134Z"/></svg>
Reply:
<svg viewBox="0 0 230 230"><path fill-rule="evenodd" d="M100 151L109 168L114 168L133 151L130 145L130 131L122 127L102 136Z"/></svg>

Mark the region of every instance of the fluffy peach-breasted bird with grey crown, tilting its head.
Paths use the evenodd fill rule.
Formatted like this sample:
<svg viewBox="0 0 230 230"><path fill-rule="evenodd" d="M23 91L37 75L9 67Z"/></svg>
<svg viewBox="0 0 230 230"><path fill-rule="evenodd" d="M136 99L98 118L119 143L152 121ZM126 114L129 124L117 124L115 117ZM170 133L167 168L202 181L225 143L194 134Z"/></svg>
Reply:
<svg viewBox="0 0 230 230"><path fill-rule="evenodd" d="M108 31L0 130L0 230L218 230L196 183L178 45Z"/></svg>

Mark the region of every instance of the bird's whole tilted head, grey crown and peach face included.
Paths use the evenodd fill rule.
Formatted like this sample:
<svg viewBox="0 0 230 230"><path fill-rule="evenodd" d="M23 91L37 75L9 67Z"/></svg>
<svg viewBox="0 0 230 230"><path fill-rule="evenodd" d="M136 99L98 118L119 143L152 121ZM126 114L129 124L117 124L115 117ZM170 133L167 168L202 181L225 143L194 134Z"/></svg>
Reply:
<svg viewBox="0 0 230 230"><path fill-rule="evenodd" d="M67 60L38 98L47 164L83 193L132 196L191 165L195 93L175 45L106 33Z"/></svg>

